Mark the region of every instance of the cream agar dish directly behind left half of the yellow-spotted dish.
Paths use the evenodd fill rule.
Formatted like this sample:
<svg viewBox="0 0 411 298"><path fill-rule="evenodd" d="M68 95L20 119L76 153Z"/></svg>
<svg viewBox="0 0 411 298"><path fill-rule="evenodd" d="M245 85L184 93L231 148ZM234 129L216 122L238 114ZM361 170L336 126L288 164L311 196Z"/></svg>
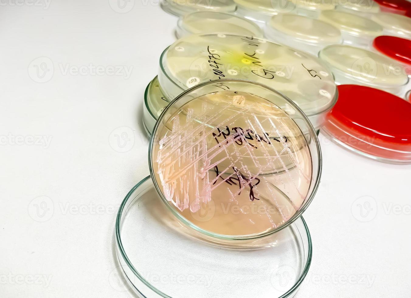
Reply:
<svg viewBox="0 0 411 298"><path fill-rule="evenodd" d="M176 35L181 38L198 33L227 33L262 37L263 32L252 21L222 12L193 12L178 19Z"/></svg>

